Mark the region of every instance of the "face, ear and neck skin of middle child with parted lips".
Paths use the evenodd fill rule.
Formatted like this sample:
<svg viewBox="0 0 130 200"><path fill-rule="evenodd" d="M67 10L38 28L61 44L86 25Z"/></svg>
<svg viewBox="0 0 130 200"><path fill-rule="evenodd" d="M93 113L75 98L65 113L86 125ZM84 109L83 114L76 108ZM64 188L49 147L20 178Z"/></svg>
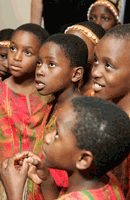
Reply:
<svg viewBox="0 0 130 200"><path fill-rule="evenodd" d="M82 66L70 66L70 60L54 42L47 42L41 47L36 67L36 88L41 95L55 96L48 121L67 102L81 95L77 85L83 72Z"/></svg>

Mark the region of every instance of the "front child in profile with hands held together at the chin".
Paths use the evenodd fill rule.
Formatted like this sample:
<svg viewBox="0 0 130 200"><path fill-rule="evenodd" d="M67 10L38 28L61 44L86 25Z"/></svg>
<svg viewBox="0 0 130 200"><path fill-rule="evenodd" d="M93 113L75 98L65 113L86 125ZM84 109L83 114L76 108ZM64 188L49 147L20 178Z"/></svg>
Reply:
<svg viewBox="0 0 130 200"><path fill-rule="evenodd" d="M56 131L46 135L44 163L29 151L3 162L1 179L8 199L22 199L27 173L39 182L45 200L58 198L55 182L47 169L51 167L68 172L69 187L62 191L60 200L124 200L116 179L107 172L129 154L128 115L111 102L82 96L67 103L56 122ZM20 164L21 158L24 161L18 171L14 166Z"/></svg>

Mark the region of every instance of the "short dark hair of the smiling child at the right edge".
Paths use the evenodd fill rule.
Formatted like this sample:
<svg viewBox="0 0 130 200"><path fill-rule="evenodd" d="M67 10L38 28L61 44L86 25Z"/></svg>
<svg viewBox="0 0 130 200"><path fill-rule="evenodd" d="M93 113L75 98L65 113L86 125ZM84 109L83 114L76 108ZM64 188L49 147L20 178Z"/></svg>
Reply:
<svg viewBox="0 0 130 200"><path fill-rule="evenodd" d="M130 24L120 24L109 29L105 36L112 35L116 39L130 41Z"/></svg>

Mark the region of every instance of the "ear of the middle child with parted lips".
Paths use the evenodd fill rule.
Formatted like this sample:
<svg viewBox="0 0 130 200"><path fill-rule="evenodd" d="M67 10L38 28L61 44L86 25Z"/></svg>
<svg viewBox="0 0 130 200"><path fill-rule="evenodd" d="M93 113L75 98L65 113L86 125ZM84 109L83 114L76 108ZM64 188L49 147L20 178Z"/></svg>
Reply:
<svg viewBox="0 0 130 200"><path fill-rule="evenodd" d="M76 83L83 78L84 68L82 66L75 67L72 74L72 82Z"/></svg>

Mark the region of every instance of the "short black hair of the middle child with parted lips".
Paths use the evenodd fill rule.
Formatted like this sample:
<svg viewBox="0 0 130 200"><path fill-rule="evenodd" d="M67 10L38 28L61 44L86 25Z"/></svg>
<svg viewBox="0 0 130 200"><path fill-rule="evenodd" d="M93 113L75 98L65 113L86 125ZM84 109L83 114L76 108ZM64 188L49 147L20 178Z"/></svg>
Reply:
<svg viewBox="0 0 130 200"><path fill-rule="evenodd" d="M81 38L72 34L59 33L51 35L43 44L47 42L54 42L60 46L70 60L71 67L82 66L84 69L86 68L88 48Z"/></svg>

